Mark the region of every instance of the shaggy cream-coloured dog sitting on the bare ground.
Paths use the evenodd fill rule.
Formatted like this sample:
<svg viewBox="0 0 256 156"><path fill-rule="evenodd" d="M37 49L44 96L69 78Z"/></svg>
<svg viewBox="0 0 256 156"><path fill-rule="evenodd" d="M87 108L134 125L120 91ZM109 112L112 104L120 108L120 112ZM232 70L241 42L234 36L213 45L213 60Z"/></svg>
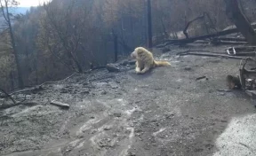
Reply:
<svg viewBox="0 0 256 156"><path fill-rule="evenodd" d="M143 47L136 48L132 52L131 57L136 59L135 71L137 74L144 74L156 66L171 66L167 61L156 61L153 58L153 54Z"/></svg>

